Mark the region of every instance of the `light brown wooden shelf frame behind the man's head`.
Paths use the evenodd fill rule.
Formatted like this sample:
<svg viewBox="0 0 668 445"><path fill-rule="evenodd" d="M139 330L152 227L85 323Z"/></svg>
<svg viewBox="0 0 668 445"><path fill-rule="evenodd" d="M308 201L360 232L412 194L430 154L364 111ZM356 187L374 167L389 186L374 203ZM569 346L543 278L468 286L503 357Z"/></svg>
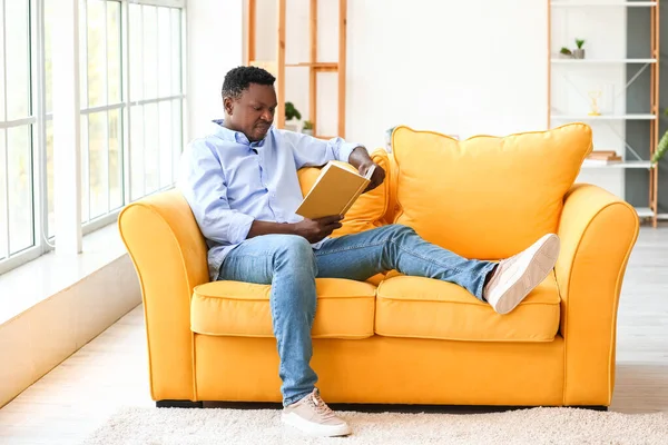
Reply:
<svg viewBox="0 0 668 445"><path fill-rule="evenodd" d="M298 63L285 62L285 21L287 0L276 0L277 2L277 48L276 60L258 62L256 56L256 22L257 4L256 0L248 1L248 23L247 42L248 51L246 65L271 66L275 67L276 75L276 98L278 106L276 109L276 127L285 128L285 78L286 68L307 68L308 69L308 119L313 122L314 136L322 138L317 134L317 75L320 72L336 72L338 83L338 135L345 138L345 77L346 77L346 34L347 34L347 0L338 1L338 60L336 62L322 62L317 58L317 2L310 2L310 60ZM332 0L321 0L332 1Z"/></svg>

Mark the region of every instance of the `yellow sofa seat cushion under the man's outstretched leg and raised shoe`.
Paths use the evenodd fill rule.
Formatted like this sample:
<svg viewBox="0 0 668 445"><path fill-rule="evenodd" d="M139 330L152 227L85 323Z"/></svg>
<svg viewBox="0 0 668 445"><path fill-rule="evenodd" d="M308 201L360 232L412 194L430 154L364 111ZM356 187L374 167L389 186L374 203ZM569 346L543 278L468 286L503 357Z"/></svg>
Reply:
<svg viewBox="0 0 668 445"><path fill-rule="evenodd" d="M560 297L550 274L510 314L458 285L397 276L377 289L375 332L387 337L469 342L551 342L559 328Z"/></svg>

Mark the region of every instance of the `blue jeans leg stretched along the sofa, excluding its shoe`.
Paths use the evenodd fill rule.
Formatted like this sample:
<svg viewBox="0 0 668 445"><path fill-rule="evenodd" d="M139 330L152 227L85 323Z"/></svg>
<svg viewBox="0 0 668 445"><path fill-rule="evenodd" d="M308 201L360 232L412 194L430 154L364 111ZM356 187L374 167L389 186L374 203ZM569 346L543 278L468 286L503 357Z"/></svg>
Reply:
<svg viewBox="0 0 668 445"><path fill-rule="evenodd" d="M454 283L482 298L495 263L466 259L430 244L406 226L389 225L325 241L315 250L320 277L365 280L387 270Z"/></svg>

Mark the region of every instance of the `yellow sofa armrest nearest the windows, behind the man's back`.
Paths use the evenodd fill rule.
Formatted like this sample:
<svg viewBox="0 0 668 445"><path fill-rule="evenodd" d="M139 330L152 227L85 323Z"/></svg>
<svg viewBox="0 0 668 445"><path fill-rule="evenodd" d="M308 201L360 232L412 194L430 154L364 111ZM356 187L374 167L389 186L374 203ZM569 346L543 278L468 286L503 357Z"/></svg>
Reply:
<svg viewBox="0 0 668 445"><path fill-rule="evenodd" d="M154 400L196 400L190 298L208 281L207 248L177 190L128 205L120 235L141 286Z"/></svg>

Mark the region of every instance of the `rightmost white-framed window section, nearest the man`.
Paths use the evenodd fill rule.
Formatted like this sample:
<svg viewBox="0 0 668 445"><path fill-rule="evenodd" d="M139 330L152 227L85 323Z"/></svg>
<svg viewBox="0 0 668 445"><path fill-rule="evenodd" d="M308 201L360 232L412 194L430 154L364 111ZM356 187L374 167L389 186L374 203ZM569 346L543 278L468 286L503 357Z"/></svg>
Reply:
<svg viewBox="0 0 668 445"><path fill-rule="evenodd" d="M180 154L181 12L130 4L130 199L169 187Z"/></svg>

